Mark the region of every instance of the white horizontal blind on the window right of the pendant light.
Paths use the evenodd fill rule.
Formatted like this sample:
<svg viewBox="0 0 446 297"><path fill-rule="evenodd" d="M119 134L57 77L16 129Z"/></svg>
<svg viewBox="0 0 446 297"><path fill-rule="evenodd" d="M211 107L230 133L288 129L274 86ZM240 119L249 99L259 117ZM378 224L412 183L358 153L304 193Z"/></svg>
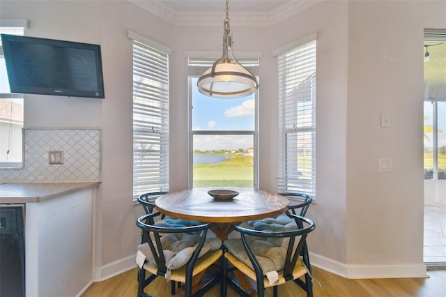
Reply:
<svg viewBox="0 0 446 297"><path fill-rule="evenodd" d="M316 195L316 40L278 55L279 192Z"/></svg>

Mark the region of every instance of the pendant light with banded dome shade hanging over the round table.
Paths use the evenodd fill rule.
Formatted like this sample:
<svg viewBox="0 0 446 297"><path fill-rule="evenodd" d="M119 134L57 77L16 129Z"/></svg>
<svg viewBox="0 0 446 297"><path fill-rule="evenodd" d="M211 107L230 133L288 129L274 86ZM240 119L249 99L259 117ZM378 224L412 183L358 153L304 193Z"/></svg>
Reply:
<svg viewBox="0 0 446 297"><path fill-rule="evenodd" d="M223 27L223 54L197 81L203 95L214 98L242 98L259 88L256 76L238 63L232 50L232 34L229 27L229 0L226 0L226 17Z"/></svg>

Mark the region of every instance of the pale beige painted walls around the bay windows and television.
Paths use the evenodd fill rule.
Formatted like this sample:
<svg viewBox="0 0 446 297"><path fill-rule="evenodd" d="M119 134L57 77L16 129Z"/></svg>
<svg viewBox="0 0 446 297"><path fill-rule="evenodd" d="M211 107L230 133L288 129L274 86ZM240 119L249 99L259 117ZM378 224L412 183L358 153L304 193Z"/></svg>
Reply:
<svg viewBox="0 0 446 297"><path fill-rule="evenodd" d="M125 1L1 1L25 34L98 43L104 100L26 96L28 127L102 129L98 279L134 263L132 43L128 29L171 47L171 190L187 188L185 51L220 51L222 24L172 26ZM347 277L422 274L422 32L446 28L444 1L323 1L273 26L231 26L237 52L262 52L260 188L277 190L277 62L271 51L317 40L317 202L312 261ZM237 54L236 54L237 56ZM379 127L381 112L392 127ZM393 158L394 172L378 172ZM378 260L378 262L376 262ZM378 264L378 266L375 266ZM410 269L403 271L406 265ZM421 267L421 273L420 273Z"/></svg>

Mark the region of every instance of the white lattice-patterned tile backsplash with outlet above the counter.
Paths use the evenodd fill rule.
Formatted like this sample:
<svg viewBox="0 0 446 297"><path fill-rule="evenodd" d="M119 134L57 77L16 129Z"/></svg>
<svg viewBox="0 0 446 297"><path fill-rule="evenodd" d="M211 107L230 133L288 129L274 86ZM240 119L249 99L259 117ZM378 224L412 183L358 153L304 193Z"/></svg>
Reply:
<svg viewBox="0 0 446 297"><path fill-rule="evenodd" d="M24 151L23 169L1 169L3 183L100 181L100 129L24 128ZM63 151L63 164L50 165L49 151Z"/></svg>

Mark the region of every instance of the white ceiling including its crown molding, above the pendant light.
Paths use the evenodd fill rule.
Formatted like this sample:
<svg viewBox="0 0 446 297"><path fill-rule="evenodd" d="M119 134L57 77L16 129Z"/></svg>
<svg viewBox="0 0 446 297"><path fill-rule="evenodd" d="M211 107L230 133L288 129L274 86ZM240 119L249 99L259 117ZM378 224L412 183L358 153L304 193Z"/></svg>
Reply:
<svg viewBox="0 0 446 297"><path fill-rule="evenodd" d="M176 25L215 26L224 20L225 0L129 0ZM322 0L230 0L231 24L268 26Z"/></svg>

